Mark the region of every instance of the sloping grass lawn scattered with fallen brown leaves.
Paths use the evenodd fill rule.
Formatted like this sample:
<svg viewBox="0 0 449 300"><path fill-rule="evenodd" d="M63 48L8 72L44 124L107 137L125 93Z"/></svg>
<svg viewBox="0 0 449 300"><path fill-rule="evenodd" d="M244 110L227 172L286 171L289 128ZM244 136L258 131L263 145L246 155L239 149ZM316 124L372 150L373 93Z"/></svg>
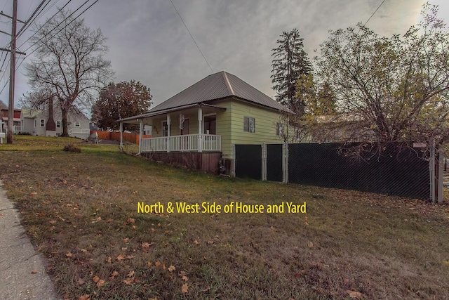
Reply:
<svg viewBox="0 0 449 300"><path fill-rule="evenodd" d="M446 204L222 178L62 138L0 145L0 178L65 299L449 299Z"/></svg>

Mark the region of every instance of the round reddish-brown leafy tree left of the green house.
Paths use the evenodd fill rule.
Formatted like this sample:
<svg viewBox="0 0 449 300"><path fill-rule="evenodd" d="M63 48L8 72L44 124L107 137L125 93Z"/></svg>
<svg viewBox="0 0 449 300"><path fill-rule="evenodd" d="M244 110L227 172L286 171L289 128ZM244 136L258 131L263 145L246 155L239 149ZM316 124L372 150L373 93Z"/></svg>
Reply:
<svg viewBox="0 0 449 300"><path fill-rule="evenodd" d="M141 115L152 105L150 89L140 81L114 82L100 92L92 107L92 121L102 129L119 129L118 119ZM137 131L138 126L123 124L124 129Z"/></svg>

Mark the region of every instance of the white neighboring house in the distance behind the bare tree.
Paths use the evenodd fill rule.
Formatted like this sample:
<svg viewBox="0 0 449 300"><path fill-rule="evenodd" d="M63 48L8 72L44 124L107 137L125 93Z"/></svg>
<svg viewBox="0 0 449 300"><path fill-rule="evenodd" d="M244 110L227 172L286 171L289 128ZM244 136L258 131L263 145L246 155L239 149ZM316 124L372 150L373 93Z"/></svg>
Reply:
<svg viewBox="0 0 449 300"><path fill-rule="evenodd" d="M32 110L22 108L22 132L33 136L60 136L62 134L62 112L55 107L53 114L51 108L47 110ZM53 118L50 118L53 115ZM76 107L71 107L67 114L67 129L69 136L75 138L88 138L91 134L89 119Z"/></svg>

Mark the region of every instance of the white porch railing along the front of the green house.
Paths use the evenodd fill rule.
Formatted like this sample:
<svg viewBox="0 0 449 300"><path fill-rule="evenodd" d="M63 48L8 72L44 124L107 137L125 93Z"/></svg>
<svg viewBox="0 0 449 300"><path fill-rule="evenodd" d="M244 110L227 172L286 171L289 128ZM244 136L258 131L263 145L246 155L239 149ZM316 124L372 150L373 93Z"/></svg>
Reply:
<svg viewBox="0 0 449 300"><path fill-rule="evenodd" d="M201 149L198 145L201 145ZM142 138L141 149L142 152L221 151L222 137L215 134L196 133L182 136L163 136L161 138Z"/></svg>

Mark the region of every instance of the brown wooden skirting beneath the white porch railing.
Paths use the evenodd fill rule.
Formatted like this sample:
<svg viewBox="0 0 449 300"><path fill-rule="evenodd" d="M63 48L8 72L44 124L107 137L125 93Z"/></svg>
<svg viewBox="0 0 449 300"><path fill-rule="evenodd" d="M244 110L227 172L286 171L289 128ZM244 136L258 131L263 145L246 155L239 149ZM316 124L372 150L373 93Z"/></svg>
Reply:
<svg viewBox="0 0 449 300"><path fill-rule="evenodd" d="M140 155L156 162L218 174L222 152L143 152Z"/></svg>

